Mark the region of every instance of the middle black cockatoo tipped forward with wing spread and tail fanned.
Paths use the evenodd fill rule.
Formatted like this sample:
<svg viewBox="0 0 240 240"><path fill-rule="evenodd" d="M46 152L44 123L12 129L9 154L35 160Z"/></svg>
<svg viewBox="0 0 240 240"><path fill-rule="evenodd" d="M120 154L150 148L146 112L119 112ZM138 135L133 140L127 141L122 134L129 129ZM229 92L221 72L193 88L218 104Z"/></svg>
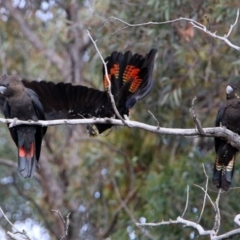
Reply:
<svg viewBox="0 0 240 240"><path fill-rule="evenodd" d="M111 92L122 117L129 115L129 109L145 97L152 89L152 73L157 50L152 49L145 57L134 54L113 52L105 59ZM113 110L107 93L109 84L103 66L105 91L70 83L23 81L39 96L47 119L73 119L91 117L113 117ZM90 135L97 135L111 128L111 124L88 126Z"/></svg>

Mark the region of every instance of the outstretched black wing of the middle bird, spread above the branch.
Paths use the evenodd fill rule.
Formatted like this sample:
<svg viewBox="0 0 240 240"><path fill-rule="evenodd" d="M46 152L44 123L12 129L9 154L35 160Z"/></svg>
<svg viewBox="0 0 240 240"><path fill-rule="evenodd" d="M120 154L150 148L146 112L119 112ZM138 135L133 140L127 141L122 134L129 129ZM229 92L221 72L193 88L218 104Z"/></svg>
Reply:
<svg viewBox="0 0 240 240"><path fill-rule="evenodd" d="M46 119L102 117L101 107L108 102L105 92L70 83L23 81L43 106Z"/></svg>

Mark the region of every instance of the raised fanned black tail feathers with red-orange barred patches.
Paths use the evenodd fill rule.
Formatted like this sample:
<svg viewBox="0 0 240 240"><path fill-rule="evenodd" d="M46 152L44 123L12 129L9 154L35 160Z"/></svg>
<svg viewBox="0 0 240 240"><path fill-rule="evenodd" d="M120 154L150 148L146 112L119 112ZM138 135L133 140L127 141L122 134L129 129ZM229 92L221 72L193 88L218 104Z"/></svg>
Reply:
<svg viewBox="0 0 240 240"><path fill-rule="evenodd" d="M134 93L139 100L147 95L152 87L152 71L157 50L152 49L145 57L130 51L122 53L113 52L105 59L107 62L108 77L111 81L113 95L121 94L124 101ZM109 89L109 82L103 67L104 89ZM126 84L126 86L124 86ZM124 89L121 89L121 88ZM138 90L139 89L139 90Z"/></svg>

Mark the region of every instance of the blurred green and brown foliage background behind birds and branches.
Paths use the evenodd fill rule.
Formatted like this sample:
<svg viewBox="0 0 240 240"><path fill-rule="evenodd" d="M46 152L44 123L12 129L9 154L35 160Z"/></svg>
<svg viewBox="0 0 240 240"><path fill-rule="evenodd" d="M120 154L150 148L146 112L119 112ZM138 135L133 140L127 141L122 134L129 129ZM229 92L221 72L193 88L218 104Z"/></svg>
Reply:
<svg viewBox="0 0 240 240"><path fill-rule="evenodd" d="M185 21L121 29L129 23L192 18L224 35L236 18L238 1L0 1L0 71L29 80L65 81L103 89L102 63L86 34L89 30L104 57L131 50L145 55L158 49L154 85L131 110L132 120L156 125L150 110L168 128L194 128L189 114L197 96L196 113L203 127L213 127L225 88L239 74L239 52L193 29ZM207 21L207 18L209 21ZM240 46L239 23L229 39ZM4 124L0 128L0 206L13 223L31 228L33 239L60 239L64 227L52 209L71 212L67 239L209 239L181 225L136 227L136 221L185 218L197 221L205 186L215 159L212 138L157 135L115 127L96 138L85 126L49 127L44 138L40 170L33 179L17 175L17 149ZM5 160L5 161L4 161ZM239 161L232 187L239 186ZM126 201L126 212L121 199ZM240 190L221 195L220 233L232 230L240 212ZM209 183L209 194L217 189ZM212 229L215 212L206 203L200 224ZM25 225L24 225L25 224ZM0 215L2 232L11 226ZM44 230L45 229L45 230ZM3 234L4 236L4 234ZM39 237L40 236L40 237ZM35 238L34 238L35 237ZM238 239L236 237L236 239Z"/></svg>

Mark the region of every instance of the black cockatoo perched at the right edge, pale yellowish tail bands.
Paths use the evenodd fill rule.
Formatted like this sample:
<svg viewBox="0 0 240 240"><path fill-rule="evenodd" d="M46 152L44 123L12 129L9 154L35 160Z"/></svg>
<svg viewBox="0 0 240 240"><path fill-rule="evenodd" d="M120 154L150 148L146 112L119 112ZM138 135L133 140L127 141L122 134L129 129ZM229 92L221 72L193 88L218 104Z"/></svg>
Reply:
<svg viewBox="0 0 240 240"><path fill-rule="evenodd" d="M234 77L230 81L226 94L227 99L218 110L215 126L224 126L240 134L240 77ZM213 183L227 191L231 186L238 149L226 140L215 137L215 151L217 157L213 169Z"/></svg>

